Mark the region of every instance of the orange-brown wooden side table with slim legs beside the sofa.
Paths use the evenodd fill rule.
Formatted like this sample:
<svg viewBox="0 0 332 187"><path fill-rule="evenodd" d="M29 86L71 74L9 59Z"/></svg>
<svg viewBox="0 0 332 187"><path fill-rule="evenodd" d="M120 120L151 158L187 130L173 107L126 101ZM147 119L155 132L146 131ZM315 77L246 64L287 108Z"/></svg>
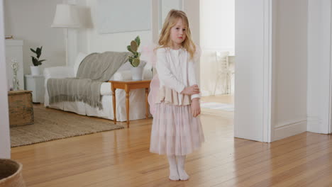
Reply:
<svg viewBox="0 0 332 187"><path fill-rule="evenodd" d="M111 83L111 90L113 96L113 112L114 112L114 124L116 124L116 89L124 89L126 91L126 111L127 111L127 128L129 128L129 91L131 89L145 89L145 105L146 111L145 116L149 118L149 103L148 94L151 80L124 80L124 81L109 81Z"/></svg>

